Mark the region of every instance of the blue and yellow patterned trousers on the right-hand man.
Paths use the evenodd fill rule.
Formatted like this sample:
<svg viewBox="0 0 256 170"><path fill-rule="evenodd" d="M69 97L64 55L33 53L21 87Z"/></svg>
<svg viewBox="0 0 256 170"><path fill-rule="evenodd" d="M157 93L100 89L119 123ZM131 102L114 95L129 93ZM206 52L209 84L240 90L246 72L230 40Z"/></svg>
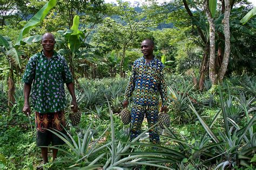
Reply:
<svg viewBox="0 0 256 170"><path fill-rule="evenodd" d="M144 106L139 104L133 104L131 112L131 135L130 140L138 137L141 133L142 122L146 114L147 125L153 126L158 121L158 105ZM157 127L152 128L149 131L149 139L153 144L159 144L159 135L157 133Z"/></svg>

